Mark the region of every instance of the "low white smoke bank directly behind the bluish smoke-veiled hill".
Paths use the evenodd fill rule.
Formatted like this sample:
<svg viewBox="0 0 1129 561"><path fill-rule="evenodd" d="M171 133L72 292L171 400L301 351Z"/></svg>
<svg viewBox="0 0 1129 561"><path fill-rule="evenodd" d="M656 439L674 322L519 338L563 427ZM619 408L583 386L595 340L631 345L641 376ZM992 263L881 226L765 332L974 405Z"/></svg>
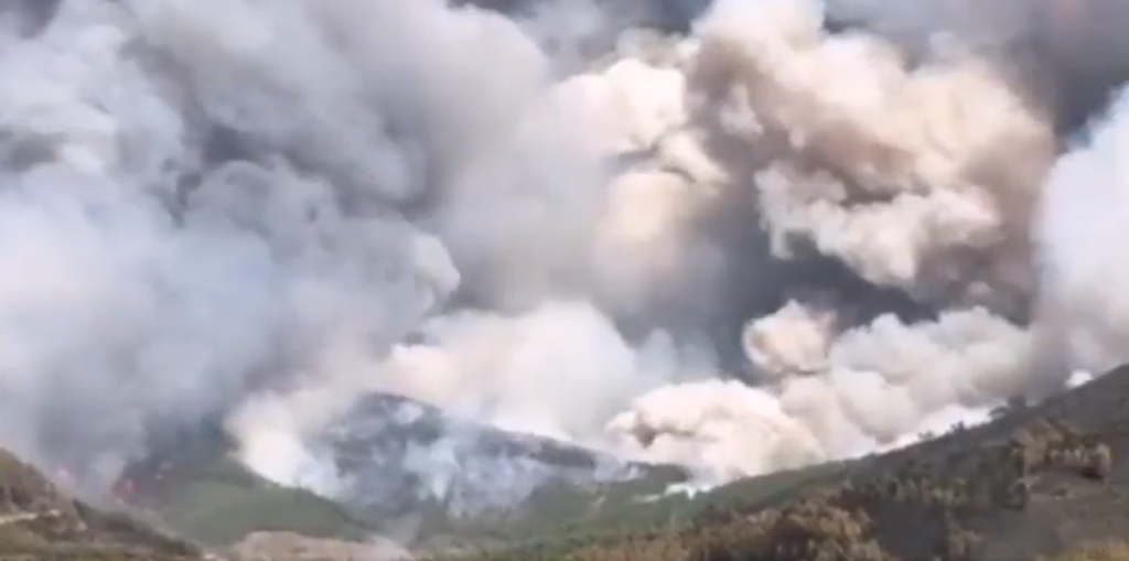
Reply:
<svg viewBox="0 0 1129 561"><path fill-rule="evenodd" d="M585 303L546 304L520 316L445 316L427 332L432 344L393 350L383 389L562 440L598 437L602 420L634 396L712 368L708 357L662 334L632 347Z"/></svg>

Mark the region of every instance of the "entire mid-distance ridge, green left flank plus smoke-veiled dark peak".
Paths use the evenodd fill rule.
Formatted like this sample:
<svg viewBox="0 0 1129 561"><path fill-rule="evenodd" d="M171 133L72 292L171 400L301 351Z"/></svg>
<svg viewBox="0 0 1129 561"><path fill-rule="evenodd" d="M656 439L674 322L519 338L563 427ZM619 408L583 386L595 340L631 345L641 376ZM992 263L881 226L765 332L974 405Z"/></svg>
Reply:
<svg viewBox="0 0 1129 561"><path fill-rule="evenodd" d="M126 470L120 492L176 532L230 545L252 532L409 542L510 540L588 520L683 481L671 466L497 430L373 395L320 439L340 475L332 500L269 482L233 458L218 427L177 435ZM612 500L609 501L609 498Z"/></svg>

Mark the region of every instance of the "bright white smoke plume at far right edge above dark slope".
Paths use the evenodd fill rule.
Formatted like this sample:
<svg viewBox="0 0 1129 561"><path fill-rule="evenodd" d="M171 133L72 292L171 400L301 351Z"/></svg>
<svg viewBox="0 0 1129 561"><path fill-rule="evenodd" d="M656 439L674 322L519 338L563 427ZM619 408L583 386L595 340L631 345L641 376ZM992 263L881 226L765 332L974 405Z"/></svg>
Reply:
<svg viewBox="0 0 1129 561"><path fill-rule="evenodd" d="M1062 156L1051 172L1034 238L1041 252L1035 392L1066 383L1068 368L1103 371L1129 360L1129 308L1117 290L1129 274L1118 244L1129 212L1124 168L1129 94L1088 141Z"/></svg>

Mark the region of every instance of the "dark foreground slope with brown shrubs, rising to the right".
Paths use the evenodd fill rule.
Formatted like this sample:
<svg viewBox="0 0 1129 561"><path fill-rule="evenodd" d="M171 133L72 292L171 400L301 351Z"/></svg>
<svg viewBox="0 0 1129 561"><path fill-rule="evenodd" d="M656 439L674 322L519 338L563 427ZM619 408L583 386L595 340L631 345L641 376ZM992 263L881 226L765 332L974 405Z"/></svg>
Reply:
<svg viewBox="0 0 1129 561"><path fill-rule="evenodd" d="M615 540L574 534L483 559L1018 561L1126 536L1129 367L680 528ZM1102 554L1119 559L1110 556L1119 547Z"/></svg>

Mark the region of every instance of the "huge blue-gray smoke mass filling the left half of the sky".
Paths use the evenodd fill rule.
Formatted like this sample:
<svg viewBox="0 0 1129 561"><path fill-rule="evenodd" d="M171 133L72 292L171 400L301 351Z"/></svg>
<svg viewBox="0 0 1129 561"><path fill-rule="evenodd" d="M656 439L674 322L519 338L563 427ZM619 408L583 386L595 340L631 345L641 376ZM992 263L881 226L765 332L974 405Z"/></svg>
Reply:
<svg viewBox="0 0 1129 561"><path fill-rule="evenodd" d="M268 442L286 464L373 391L457 409L413 389L443 380L401 376L394 347L456 289L495 312L432 322L450 336L543 305L533 327L557 330L533 334L549 356L480 392L504 401L482 418L519 417L507 384L536 384L518 368L589 341L603 347L555 374L598 391L619 365L592 414L657 383L580 293L611 166L548 95L535 21L441 2L33 8L5 8L19 25L0 58L6 445L105 483L215 417L248 458ZM570 323L593 335L554 349Z"/></svg>

